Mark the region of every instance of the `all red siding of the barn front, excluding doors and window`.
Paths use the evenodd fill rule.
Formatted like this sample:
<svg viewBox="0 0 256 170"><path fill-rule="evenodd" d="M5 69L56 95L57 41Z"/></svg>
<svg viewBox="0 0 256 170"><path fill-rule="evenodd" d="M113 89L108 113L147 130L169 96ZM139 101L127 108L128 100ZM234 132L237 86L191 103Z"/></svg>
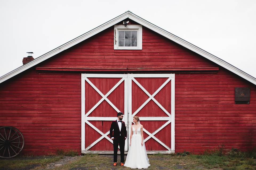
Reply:
<svg viewBox="0 0 256 170"><path fill-rule="evenodd" d="M113 27L37 67L218 67L143 27L142 50L113 50ZM172 72L175 73L175 72ZM235 87L250 87L250 104L234 104ZM255 85L220 67L216 73L175 73L175 152L225 145L256 146ZM81 149L81 73L31 68L0 84L1 126L25 137L24 154ZM160 139L161 140L161 139Z"/></svg>

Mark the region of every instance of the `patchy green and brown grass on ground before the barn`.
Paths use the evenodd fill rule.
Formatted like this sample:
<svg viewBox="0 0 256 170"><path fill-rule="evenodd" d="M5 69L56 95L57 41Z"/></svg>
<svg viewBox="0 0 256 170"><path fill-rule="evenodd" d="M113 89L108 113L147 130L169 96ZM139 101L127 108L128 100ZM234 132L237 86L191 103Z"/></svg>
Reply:
<svg viewBox="0 0 256 170"><path fill-rule="evenodd" d="M63 155L65 153L59 153ZM148 155L151 166L148 169L171 169L171 170L243 170L243 169L256 169L256 151L251 152L239 152L236 149L232 149L228 154L223 154L222 150L216 150L214 152L205 152L202 155L193 155L184 151L179 154L164 155L155 154ZM15 159L0 160L0 170L2 167L6 167L8 164L13 166L8 167L10 169L22 169L21 167L31 165L41 165L41 169L45 168L45 165L49 162L58 161L61 156L52 157L36 157L32 159L30 157L22 157ZM120 157L118 156L118 160ZM113 167L113 155L97 155L86 154L80 156L69 164L62 165L61 167L55 167L54 170L76 170L76 169L130 169L127 167L121 167L118 163L117 167ZM5 166L3 166L5 165ZM33 167L32 167L33 168ZM39 170L36 167L34 169Z"/></svg>

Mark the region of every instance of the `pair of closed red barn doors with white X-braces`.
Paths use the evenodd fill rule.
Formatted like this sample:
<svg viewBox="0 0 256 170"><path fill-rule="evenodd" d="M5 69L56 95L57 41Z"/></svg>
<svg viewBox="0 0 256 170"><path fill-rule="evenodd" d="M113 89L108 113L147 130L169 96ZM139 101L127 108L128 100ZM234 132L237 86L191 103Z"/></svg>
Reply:
<svg viewBox="0 0 256 170"><path fill-rule="evenodd" d="M111 121L123 112L130 143L133 116L144 126L149 154L174 152L174 74L82 74L81 152L113 153Z"/></svg>

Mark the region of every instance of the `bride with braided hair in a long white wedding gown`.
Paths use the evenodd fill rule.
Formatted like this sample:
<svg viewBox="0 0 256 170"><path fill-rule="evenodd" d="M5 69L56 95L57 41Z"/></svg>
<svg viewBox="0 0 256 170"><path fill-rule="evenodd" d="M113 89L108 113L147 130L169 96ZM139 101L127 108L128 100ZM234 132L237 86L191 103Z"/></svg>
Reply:
<svg viewBox="0 0 256 170"><path fill-rule="evenodd" d="M139 123L139 117L133 117L134 125L131 126L130 148L124 166L129 168L148 168L149 158L143 143L143 126Z"/></svg>

